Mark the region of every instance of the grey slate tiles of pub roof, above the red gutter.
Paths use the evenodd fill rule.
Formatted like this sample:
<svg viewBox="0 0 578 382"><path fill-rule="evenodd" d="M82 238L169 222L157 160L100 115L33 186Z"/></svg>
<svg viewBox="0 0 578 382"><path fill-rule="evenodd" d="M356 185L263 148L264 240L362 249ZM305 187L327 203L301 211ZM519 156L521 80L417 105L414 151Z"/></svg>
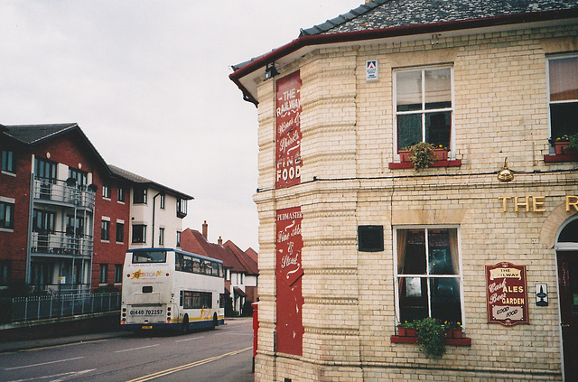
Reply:
<svg viewBox="0 0 578 382"><path fill-rule="evenodd" d="M575 0L373 0L300 36L465 22L514 14L538 14L578 8Z"/></svg>

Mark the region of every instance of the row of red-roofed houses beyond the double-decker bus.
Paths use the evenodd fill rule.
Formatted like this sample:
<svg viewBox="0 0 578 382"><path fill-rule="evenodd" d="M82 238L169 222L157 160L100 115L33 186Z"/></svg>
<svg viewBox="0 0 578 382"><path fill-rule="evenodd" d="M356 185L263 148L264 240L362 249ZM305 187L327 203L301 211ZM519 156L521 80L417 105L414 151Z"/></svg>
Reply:
<svg viewBox="0 0 578 382"><path fill-rule="evenodd" d="M208 230L209 226L205 221L202 225L202 233L191 228L182 231L182 250L216 258L223 262L224 293L230 299L233 311L242 314L245 303L255 303L258 299L256 291L258 267L251 257L256 252L252 248L244 252L230 240L223 244L220 237L217 244L210 243L207 240Z"/></svg>

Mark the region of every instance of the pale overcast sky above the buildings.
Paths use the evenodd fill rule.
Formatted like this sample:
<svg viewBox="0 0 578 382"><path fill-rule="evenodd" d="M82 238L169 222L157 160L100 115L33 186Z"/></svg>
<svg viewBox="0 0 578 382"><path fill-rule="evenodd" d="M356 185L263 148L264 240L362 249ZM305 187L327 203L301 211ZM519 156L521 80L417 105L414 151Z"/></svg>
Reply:
<svg viewBox="0 0 578 382"><path fill-rule="evenodd" d="M0 124L76 122L109 164L187 193L183 228L258 250L256 107L230 65L363 0L0 2Z"/></svg>

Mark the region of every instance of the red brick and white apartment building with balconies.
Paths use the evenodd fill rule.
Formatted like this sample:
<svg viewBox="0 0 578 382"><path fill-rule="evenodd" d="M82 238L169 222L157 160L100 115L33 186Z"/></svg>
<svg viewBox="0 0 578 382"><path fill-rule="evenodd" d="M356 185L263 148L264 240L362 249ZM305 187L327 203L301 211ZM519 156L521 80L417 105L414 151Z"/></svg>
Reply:
<svg viewBox="0 0 578 382"><path fill-rule="evenodd" d="M126 250L179 247L192 197L108 166L77 124L0 126L0 288L122 283Z"/></svg>

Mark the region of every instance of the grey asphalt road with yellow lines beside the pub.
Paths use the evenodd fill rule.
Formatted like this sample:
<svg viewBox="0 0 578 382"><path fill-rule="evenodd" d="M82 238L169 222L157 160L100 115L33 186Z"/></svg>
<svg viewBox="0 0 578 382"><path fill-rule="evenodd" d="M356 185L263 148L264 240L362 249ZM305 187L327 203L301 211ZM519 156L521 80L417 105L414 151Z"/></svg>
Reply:
<svg viewBox="0 0 578 382"><path fill-rule="evenodd" d="M186 335L125 335L0 354L0 380L249 382L250 320Z"/></svg>

